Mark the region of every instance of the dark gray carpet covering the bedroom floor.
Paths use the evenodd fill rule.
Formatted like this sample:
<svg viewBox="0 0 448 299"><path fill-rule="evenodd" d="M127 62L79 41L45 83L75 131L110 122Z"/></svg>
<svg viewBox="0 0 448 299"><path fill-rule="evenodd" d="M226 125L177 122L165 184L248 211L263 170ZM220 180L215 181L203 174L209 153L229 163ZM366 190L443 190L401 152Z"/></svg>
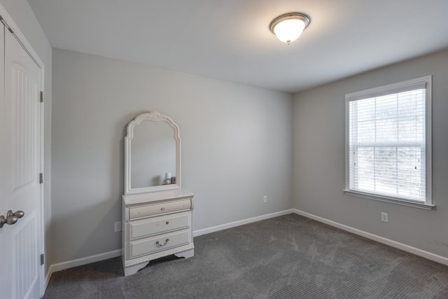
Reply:
<svg viewBox="0 0 448 299"><path fill-rule="evenodd" d="M448 298L448 267L290 214L195 237L193 258L52 274L50 298Z"/></svg>

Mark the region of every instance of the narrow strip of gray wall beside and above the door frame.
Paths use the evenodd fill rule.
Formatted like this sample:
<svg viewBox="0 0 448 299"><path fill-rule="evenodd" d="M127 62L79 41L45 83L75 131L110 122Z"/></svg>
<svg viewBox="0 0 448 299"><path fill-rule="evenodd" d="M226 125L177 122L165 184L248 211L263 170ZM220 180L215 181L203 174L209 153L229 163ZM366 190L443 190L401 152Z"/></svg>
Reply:
<svg viewBox="0 0 448 299"><path fill-rule="evenodd" d="M43 33L29 4L24 0L0 0L1 5L6 9L20 32L25 36L31 47L36 51L38 57L44 64L44 223L45 223L45 256L51 256L50 244L50 221L51 221L51 78L52 78L52 48L48 39ZM48 271L50 263L45 262L45 273Z"/></svg>

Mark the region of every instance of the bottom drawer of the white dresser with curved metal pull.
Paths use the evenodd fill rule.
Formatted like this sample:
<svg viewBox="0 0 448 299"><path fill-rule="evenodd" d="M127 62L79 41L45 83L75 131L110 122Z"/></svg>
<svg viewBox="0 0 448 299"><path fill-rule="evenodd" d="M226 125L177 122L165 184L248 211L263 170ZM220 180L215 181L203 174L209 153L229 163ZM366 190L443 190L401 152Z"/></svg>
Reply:
<svg viewBox="0 0 448 299"><path fill-rule="evenodd" d="M138 258L146 254L164 251L177 246L190 243L190 230L171 232L148 239L130 242L130 258Z"/></svg>

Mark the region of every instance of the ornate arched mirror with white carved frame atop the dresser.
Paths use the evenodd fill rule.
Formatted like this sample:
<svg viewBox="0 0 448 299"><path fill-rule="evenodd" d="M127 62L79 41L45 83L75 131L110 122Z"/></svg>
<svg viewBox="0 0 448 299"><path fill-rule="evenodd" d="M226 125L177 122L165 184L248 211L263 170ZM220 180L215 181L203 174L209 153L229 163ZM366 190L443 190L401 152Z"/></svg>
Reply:
<svg viewBox="0 0 448 299"><path fill-rule="evenodd" d="M181 137L174 121L157 111L127 125L125 194L181 188Z"/></svg>

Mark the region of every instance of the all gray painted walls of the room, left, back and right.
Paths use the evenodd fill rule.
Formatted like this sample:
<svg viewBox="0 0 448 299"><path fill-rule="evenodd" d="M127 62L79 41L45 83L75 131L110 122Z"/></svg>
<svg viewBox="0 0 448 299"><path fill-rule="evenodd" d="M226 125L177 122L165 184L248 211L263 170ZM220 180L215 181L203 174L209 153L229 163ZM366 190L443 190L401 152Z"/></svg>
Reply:
<svg viewBox="0 0 448 299"><path fill-rule="evenodd" d="M45 272L51 263L120 248L113 222L121 218L125 125L148 110L180 127L195 230L293 206L448 257L448 52L301 92L292 102L286 93L66 50L52 57L27 1L0 3L45 64ZM428 74L436 209L344 195L344 95Z"/></svg>

